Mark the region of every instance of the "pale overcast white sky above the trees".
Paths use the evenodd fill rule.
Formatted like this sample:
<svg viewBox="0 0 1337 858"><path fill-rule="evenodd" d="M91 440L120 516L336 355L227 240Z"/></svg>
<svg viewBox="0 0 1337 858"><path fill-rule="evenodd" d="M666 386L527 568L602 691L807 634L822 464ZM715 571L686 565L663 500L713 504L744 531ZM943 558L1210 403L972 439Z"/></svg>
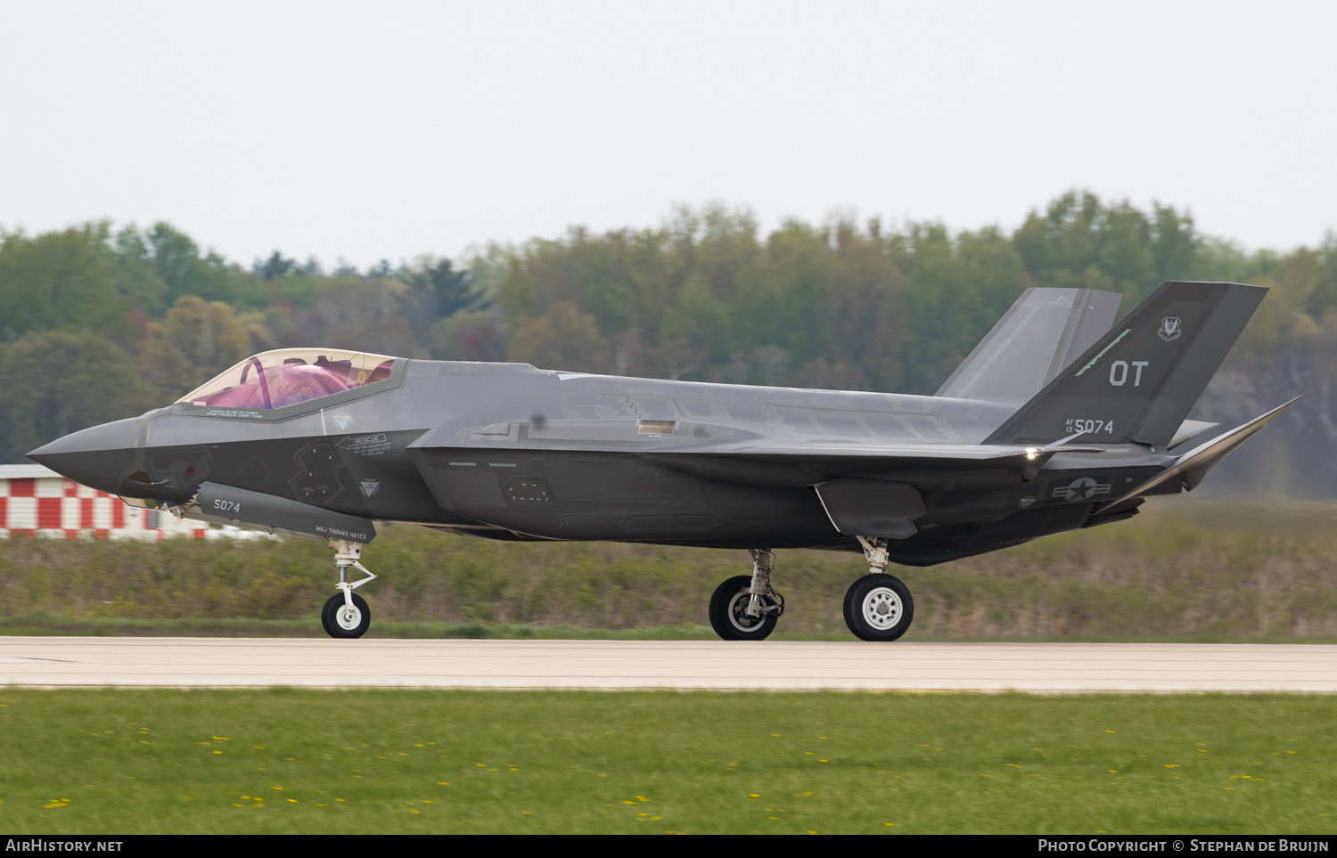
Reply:
<svg viewBox="0 0 1337 858"><path fill-rule="evenodd" d="M836 208L1012 229L1080 187L1246 247L1337 227L1333 3L0 0L0 226L230 259Z"/></svg>

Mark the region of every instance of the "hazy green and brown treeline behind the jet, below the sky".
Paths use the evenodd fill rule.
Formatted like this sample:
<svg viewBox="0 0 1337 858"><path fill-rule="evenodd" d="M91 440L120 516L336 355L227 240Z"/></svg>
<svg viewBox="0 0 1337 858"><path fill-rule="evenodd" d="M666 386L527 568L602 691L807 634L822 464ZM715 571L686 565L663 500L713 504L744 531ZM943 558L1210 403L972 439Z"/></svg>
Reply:
<svg viewBox="0 0 1337 858"><path fill-rule="evenodd" d="M1011 234L834 217L762 235L746 211L682 208L654 229L368 271L279 253L243 267L166 223L3 233L0 457L282 346L931 393L1027 286L1115 290L1127 311L1166 279L1273 286L1233 360L1326 372L1337 239L1247 254L1187 212L1080 192Z"/></svg>

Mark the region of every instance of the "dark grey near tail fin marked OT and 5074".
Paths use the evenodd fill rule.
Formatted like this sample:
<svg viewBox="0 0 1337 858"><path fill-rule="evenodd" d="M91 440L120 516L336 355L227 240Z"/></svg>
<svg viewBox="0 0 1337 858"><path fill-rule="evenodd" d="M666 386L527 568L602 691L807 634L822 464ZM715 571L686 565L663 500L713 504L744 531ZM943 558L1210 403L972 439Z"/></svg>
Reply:
<svg viewBox="0 0 1337 858"><path fill-rule="evenodd" d="M1267 293L1245 283L1163 283L984 444L1166 448Z"/></svg>

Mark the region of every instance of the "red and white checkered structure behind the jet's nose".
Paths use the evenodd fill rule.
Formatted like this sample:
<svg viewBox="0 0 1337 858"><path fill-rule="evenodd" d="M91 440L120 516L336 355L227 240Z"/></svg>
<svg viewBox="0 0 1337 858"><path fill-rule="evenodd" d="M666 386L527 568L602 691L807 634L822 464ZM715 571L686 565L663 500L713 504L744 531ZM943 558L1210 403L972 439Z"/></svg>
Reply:
<svg viewBox="0 0 1337 858"><path fill-rule="evenodd" d="M221 532L214 532L221 533ZM209 525L130 507L41 465L0 465L0 539L205 539Z"/></svg>

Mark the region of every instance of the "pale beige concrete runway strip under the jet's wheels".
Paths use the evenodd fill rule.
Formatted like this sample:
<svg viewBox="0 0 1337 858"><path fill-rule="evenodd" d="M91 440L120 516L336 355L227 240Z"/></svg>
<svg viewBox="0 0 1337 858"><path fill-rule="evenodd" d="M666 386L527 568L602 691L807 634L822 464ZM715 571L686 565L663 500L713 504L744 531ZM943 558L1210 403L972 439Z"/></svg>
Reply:
<svg viewBox="0 0 1337 858"><path fill-rule="evenodd" d="M0 683L1337 691L1337 646L0 637Z"/></svg>

